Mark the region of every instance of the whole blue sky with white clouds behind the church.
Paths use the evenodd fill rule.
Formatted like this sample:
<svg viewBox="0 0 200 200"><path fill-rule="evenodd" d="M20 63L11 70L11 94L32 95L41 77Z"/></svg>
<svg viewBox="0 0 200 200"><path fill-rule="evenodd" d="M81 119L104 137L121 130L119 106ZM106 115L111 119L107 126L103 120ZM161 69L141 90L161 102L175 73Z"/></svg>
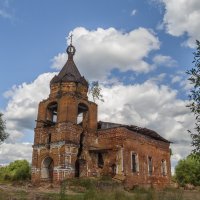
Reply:
<svg viewBox="0 0 200 200"><path fill-rule="evenodd" d="M0 163L30 160L37 105L66 61L72 32L79 70L99 80L109 101L99 102L99 119L149 127L174 141L174 166L191 150L185 71L200 39L199 13L198 0L0 0L0 110L10 133Z"/></svg>

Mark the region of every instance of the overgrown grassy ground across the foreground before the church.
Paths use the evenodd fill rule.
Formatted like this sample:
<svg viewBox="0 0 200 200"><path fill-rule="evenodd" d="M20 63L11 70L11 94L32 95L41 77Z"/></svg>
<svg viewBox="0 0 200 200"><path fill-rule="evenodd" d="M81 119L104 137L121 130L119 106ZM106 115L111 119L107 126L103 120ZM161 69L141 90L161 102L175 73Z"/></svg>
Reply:
<svg viewBox="0 0 200 200"><path fill-rule="evenodd" d="M0 200L200 200L200 191L136 188L126 191L112 179L71 179L61 187L33 187L25 182L0 183Z"/></svg>

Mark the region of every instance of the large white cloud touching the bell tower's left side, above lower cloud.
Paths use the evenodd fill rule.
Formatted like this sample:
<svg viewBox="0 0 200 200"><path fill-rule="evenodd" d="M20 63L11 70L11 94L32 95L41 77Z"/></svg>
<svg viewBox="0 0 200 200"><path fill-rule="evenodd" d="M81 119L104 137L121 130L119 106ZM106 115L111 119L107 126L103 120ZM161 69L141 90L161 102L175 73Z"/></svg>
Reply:
<svg viewBox="0 0 200 200"><path fill-rule="evenodd" d="M33 129L38 103L49 95L49 82L55 73L45 73L32 83L23 83L7 91L9 99L4 112L9 140L15 141L23 136L23 131Z"/></svg>

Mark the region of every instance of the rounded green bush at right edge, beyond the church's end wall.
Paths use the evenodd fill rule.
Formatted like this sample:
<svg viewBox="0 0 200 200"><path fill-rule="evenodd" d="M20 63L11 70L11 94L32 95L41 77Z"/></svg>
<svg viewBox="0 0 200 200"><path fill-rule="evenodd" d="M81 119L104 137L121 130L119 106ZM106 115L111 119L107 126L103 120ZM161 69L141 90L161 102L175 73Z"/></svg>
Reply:
<svg viewBox="0 0 200 200"><path fill-rule="evenodd" d="M175 179L181 185L200 185L200 162L192 155L180 160L175 168Z"/></svg>

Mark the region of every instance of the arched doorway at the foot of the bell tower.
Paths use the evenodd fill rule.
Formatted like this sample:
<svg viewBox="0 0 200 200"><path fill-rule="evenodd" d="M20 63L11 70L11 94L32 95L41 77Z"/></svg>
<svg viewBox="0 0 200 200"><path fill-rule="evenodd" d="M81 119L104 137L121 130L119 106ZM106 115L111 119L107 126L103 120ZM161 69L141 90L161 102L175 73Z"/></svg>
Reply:
<svg viewBox="0 0 200 200"><path fill-rule="evenodd" d="M51 157L46 157L42 161L41 165L41 179L46 181L53 180L53 159Z"/></svg>

